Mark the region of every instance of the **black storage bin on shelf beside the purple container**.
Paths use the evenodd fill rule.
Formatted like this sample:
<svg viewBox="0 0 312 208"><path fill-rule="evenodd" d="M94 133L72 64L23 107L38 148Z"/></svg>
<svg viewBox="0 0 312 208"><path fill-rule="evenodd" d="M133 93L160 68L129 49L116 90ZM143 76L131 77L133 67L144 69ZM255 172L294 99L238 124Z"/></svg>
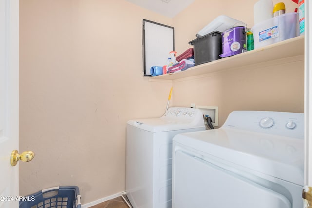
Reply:
<svg viewBox="0 0 312 208"><path fill-rule="evenodd" d="M222 54L222 34L213 31L189 42L193 45L195 66L220 59Z"/></svg>

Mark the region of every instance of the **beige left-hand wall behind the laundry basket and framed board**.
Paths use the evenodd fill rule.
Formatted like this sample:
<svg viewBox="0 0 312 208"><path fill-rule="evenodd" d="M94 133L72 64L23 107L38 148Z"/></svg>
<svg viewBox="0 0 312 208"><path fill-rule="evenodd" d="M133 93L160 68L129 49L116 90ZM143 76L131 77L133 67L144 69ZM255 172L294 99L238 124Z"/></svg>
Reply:
<svg viewBox="0 0 312 208"><path fill-rule="evenodd" d="M20 1L20 195L125 190L126 122L161 116L172 86L142 76L142 19L172 25L124 0Z"/></svg>

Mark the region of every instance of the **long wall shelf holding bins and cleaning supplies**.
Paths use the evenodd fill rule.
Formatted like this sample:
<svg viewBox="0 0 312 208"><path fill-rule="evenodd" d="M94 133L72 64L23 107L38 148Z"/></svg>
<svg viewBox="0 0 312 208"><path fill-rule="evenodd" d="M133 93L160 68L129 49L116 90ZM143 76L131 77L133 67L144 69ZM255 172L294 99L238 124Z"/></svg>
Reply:
<svg viewBox="0 0 312 208"><path fill-rule="evenodd" d="M233 69L300 55L304 55L304 36L298 36L265 46L263 48L237 54L232 57L226 57L204 63L191 67L182 72L153 76L150 77L150 79L153 81L176 80L190 76L198 76L217 71L220 72L229 70L229 68Z"/></svg>

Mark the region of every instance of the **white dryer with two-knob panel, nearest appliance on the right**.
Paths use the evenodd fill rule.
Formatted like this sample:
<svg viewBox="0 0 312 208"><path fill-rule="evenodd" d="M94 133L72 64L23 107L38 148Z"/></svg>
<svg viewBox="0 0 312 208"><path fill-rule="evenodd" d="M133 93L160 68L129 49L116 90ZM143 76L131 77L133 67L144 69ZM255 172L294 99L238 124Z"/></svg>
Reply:
<svg viewBox="0 0 312 208"><path fill-rule="evenodd" d="M304 114L234 111L173 139L172 208L302 208Z"/></svg>

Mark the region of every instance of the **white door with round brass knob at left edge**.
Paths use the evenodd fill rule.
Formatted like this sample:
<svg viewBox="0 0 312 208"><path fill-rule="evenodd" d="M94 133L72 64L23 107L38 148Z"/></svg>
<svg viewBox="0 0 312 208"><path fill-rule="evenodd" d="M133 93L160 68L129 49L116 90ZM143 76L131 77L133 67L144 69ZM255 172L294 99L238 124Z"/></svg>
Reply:
<svg viewBox="0 0 312 208"><path fill-rule="evenodd" d="M19 0L0 0L0 208L17 208L19 139Z"/></svg>

